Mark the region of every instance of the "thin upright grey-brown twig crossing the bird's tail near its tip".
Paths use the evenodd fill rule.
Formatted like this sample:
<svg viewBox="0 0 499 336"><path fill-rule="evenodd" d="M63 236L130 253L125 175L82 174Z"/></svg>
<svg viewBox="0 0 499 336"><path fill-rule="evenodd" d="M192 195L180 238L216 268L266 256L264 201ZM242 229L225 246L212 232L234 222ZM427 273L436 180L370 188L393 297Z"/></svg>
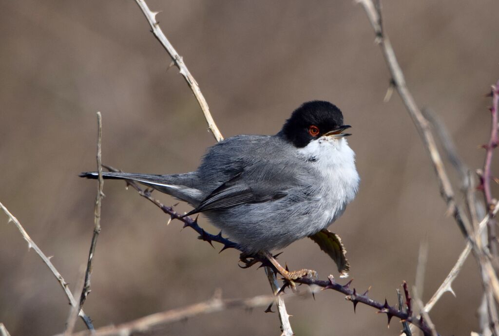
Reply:
<svg viewBox="0 0 499 336"><path fill-rule="evenodd" d="M90 293L90 276L92 274L92 261L95 254L95 247L97 246L97 238L100 233L100 208L102 203L102 188L104 186L104 179L102 178L102 116L97 112L97 172L99 173L97 180L97 196L95 196L95 209L94 209L94 230L92 235L92 242L90 243L90 251L88 253L87 269L85 271L85 284L80 296L80 308L83 307L88 294Z"/></svg>

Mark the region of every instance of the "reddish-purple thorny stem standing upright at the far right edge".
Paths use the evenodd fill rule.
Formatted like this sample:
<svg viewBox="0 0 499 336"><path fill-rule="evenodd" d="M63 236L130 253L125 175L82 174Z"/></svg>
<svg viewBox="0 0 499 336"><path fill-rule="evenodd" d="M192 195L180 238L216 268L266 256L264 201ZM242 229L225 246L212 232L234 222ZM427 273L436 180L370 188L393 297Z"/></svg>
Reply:
<svg viewBox="0 0 499 336"><path fill-rule="evenodd" d="M483 147L486 150L485 162L484 162L484 171L481 176L481 184L480 187L484 190L484 198L485 203L487 204L487 211L490 214L493 209L492 202L492 191L491 191L491 179L492 175L492 157L494 155L494 149L499 145L499 135L498 135L498 118L499 115L499 80L496 82L496 85L492 86L492 108L491 108L491 136L489 139L489 143L484 145ZM496 221L491 218L489 220L489 248L491 250L491 254L495 257L498 256L498 242L496 237Z"/></svg>

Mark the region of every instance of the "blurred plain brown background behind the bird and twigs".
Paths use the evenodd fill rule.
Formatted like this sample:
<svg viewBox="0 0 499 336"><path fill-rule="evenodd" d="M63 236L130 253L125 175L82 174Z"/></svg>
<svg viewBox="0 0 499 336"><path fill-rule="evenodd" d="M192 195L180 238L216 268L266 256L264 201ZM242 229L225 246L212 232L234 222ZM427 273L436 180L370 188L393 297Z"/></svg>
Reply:
<svg viewBox="0 0 499 336"><path fill-rule="evenodd" d="M360 191L332 226L348 249L359 290L396 300L414 283L421 241L429 243L425 301L464 241L439 196L422 142L399 97L383 103L389 75L361 6L352 1L148 1L199 82L225 137L273 134L304 101L329 100L353 125ZM499 4L384 1L385 29L417 102L445 122L464 160L483 165L490 115L484 98L499 75ZM86 263L96 183L96 111L103 162L125 171L197 167L214 144L191 91L134 1L0 1L0 200L74 288ZM495 171L499 174L496 154ZM452 170L452 169L451 169ZM454 174L455 175L455 174ZM92 293L96 327L208 299L269 293L263 270L242 270L237 251L218 254L123 182L107 181ZM498 195L498 189L495 189ZM481 195L479 195L481 197ZM156 194L167 204L168 196ZM179 206L184 211L188 207ZM204 219L204 227L215 229ZM310 240L280 257L290 268L335 267ZM443 335L478 331L481 301L470 258L432 311ZM64 330L59 285L0 214L0 322L15 335ZM288 304L296 335L398 335L396 319L339 293ZM78 321L78 329L83 324ZM233 310L169 326L167 335L279 335L276 314Z"/></svg>

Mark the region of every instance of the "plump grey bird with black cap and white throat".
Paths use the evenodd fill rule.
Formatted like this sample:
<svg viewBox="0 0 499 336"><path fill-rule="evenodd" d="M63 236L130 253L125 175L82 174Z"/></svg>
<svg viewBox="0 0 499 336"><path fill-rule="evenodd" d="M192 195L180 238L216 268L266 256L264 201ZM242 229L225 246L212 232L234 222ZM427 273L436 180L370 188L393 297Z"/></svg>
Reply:
<svg viewBox="0 0 499 336"><path fill-rule="evenodd" d="M186 216L203 213L244 253L263 253L286 279L296 279L314 271L289 272L270 252L327 229L356 196L360 178L351 134L344 133L350 127L334 104L309 101L274 135L238 135L211 146L196 171L102 177L133 180L189 203Z"/></svg>

